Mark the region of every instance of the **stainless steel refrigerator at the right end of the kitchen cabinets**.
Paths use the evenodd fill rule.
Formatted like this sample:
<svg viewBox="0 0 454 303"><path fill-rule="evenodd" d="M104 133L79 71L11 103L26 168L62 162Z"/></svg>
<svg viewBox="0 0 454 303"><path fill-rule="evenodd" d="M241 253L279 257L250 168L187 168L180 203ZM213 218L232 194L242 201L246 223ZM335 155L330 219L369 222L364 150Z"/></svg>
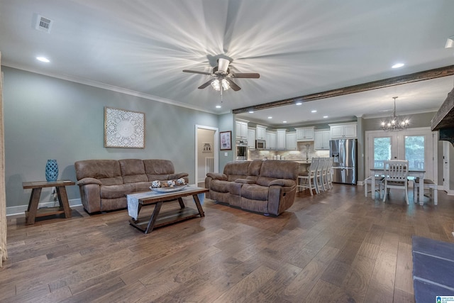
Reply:
<svg viewBox="0 0 454 303"><path fill-rule="evenodd" d="M329 141L329 155L333 158L333 182L356 184L357 146L356 139Z"/></svg>

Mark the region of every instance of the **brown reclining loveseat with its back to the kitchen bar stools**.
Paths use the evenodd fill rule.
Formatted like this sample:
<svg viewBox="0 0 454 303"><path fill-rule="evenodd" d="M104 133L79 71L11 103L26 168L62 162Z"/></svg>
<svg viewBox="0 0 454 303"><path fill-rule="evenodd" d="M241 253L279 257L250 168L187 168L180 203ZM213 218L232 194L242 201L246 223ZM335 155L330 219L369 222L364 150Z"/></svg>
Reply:
<svg viewBox="0 0 454 303"><path fill-rule="evenodd" d="M206 174L206 198L265 215L279 216L292 206L299 164L293 161L228 162L223 173Z"/></svg>

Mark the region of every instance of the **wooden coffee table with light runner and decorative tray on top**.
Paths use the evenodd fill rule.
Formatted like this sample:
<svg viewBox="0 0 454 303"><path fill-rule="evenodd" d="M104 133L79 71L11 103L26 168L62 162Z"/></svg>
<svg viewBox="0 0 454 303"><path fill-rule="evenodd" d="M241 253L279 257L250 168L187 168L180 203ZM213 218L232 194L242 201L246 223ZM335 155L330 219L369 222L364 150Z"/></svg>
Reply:
<svg viewBox="0 0 454 303"><path fill-rule="evenodd" d="M209 189L189 186L178 192L157 193L150 191L127 194L126 197L128 198L128 211L130 211L130 215L131 211L135 211L135 207L137 207L137 217L132 217L129 220L129 224L140 229L140 231L143 231L144 233L151 233L153 228L191 219L196 216L205 216L204 209L202 209L200 204L199 194L204 194L206 192L209 192ZM184 205L182 197L188 196L192 196L194 199L197 210L187 208ZM166 202L174 202L175 200L178 200L179 202L179 209L172 209L160 214L162 204ZM135 204L136 202L138 203ZM138 217L140 209L142 206L150 204L155 204L155 209L153 210L153 214L151 214L150 219L140 219Z"/></svg>

